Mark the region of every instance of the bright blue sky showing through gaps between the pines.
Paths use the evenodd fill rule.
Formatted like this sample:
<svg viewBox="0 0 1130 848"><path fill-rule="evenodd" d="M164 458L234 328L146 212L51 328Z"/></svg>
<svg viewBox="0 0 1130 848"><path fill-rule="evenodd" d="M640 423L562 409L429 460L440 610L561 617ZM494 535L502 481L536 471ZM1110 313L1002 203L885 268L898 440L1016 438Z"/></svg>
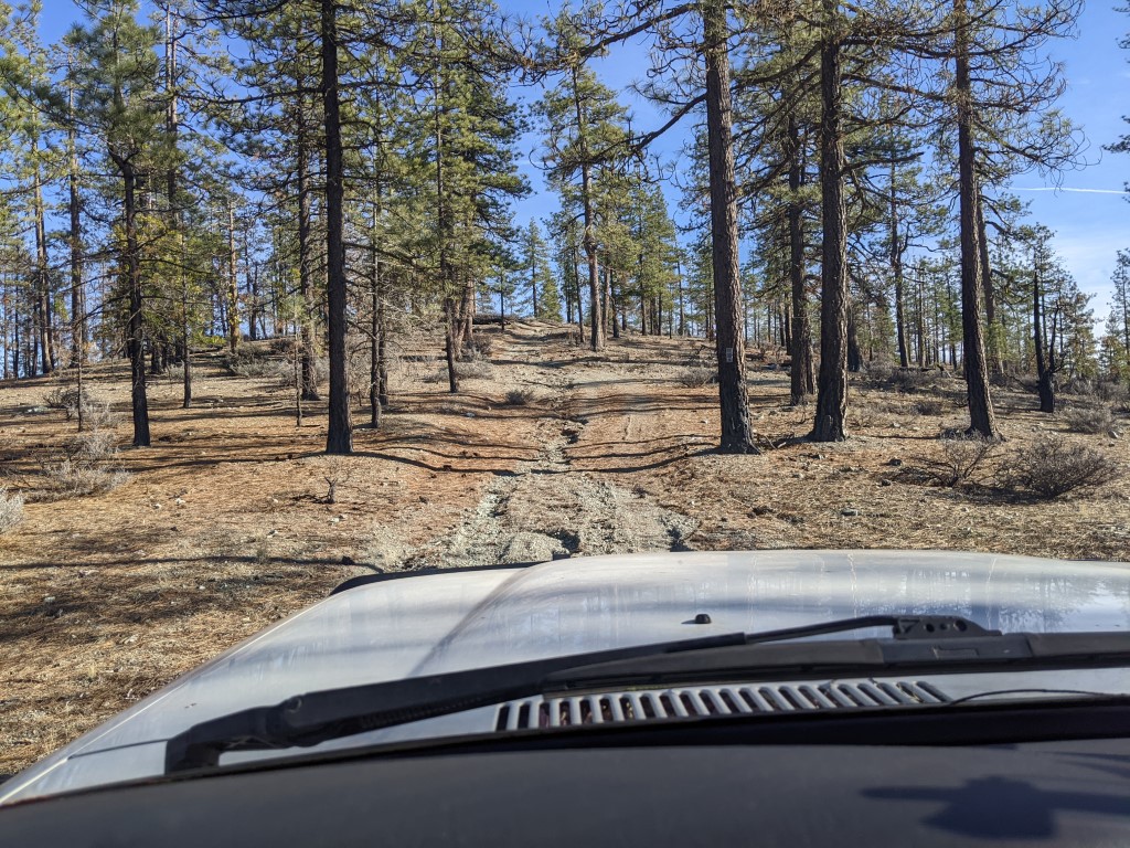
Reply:
<svg viewBox="0 0 1130 848"><path fill-rule="evenodd" d="M559 8L558 0L499 0L503 9L521 16L546 14ZM72 0L44 0L43 36L58 40L67 26L80 17ZM1087 161L1080 171L1062 175L1062 190L1045 182L1038 174L1017 178L1012 184L1023 199L1032 204L1032 219L1057 233L1055 248L1075 274L1080 287L1095 295L1096 318L1105 319L1110 303L1110 276L1115 252L1130 249L1130 204L1123 193L1130 182L1130 155L1110 154L1103 145L1130 132L1122 120L1130 114L1130 51L1120 50L1119 38L1130 31L1130 15L1115 10L1112 0L1090 0L1079 19L1078 37L1057 42L1052 57L1063 62L1068 89L1060 105L1063 112L1081 126L1088 140ZM625 89L646 68L645 52L635 45L618 50L598 64L598 72L612 88ZM525 90L523 97L536 97ZM626 92L621 98L635 114L636 126L645 129L658 121L658 112L647 103ZM672 155L683 140L675 132L666 139L661 153ZM529 138L532 148L536 136ZM529 164L534 150L525 152L525 170L534 193L516 208L519 222L545 217L556 208L555 199L545 190L537 168ZM668 192L672 213L677 194Z"/></svg>

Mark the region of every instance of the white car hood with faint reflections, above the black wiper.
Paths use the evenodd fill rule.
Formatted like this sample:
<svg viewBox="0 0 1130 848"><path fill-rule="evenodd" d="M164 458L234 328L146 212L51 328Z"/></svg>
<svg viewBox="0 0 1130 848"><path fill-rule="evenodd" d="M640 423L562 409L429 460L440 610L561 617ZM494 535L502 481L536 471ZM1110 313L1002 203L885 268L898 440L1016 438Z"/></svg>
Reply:
<svg viewBox="0 0 1130 848"><path fill-rule="evenodd" d="M699 613L711 623L694 624ZM327 598L190 672L0 786L0 803L159 773L164 743L177 733L303 692L879 613L963 615L1006 631L1130 631L1130 565L945 552L694 552L383 580Z"/></svg>

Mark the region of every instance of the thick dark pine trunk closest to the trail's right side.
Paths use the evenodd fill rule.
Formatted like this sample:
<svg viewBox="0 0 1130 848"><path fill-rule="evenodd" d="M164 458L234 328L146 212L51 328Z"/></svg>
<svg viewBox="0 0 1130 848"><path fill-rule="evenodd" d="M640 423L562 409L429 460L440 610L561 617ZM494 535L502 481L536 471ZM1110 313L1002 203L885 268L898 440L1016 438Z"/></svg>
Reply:
<svg viewBox="0 0 1130 848"><path fill-rule="evenodd" d="M738 268L738 199L733 182L733 111L727 45L730 28L725 9L723 0L704 0L702 3L715 351L722 430L719 450L723 453L758 453L746 395L745 308Z"/></svg>

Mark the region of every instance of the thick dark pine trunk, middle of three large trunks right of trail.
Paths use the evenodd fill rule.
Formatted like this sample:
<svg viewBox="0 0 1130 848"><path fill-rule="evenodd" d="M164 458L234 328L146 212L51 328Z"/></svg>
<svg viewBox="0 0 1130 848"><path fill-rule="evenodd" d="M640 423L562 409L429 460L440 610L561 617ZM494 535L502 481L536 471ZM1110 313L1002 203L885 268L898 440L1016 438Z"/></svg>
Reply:
<svg viewBox="0 0 1130 848"><path fill-rule="evenodd" d="M842 442L847 438L847 274L844 265L846 216L843 197L844 148L840 135L842 93L840 42L834 33L836 0L824 0L820 44L820 193L824 224L820 283L820 377L811 439Z"/></svg>

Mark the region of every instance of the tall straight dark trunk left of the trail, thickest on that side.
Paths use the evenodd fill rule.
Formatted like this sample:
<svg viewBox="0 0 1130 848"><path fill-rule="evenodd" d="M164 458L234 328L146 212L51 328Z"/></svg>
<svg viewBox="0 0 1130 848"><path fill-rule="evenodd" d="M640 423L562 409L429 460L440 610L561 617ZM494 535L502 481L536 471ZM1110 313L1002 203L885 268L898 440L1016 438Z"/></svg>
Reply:
<svg viewBox="0 0 1130 848"><path fill-rule="evenodd" d="M325 267L330 354L330 422L325 452L353 453L349 374L346 367L345 185L334 0L322 0L322 98L325 116Z"/></svg>

